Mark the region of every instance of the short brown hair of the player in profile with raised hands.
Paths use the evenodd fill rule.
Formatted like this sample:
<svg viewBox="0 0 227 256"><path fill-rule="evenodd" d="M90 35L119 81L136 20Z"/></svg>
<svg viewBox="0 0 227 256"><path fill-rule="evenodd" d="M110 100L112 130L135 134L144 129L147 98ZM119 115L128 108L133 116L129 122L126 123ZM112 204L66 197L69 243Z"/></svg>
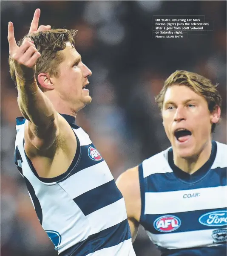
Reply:
<svg viewBox="0 0 227 256"><path fill-rule="evenodd" d="M34 45L41 56L38 58L36 63L35 78L37 84L38 75L40 73L49 73L51 76L59 76L59 64L64 61L61 50L65 49L66 42L70 42L74 46L74 36L77 34L77 30L71 29L51 29L45 32L33 33L31 35L25 35L22 40L20 40L17 45L21 46L25 38L31 38L34 41ZM16 75L14 70L14 65L11 57L9 57L9 71L11 78L16 84ZM40 87L41 90L42 87Z"/></svg>

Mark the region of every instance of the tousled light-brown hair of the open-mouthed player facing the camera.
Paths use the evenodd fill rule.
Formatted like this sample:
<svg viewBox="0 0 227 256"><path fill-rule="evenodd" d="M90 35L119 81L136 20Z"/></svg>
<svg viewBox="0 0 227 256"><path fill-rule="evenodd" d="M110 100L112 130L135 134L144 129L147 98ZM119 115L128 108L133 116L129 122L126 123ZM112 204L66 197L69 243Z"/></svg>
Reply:
<svg viewBox="0 0 227 256"><path fill-rule="evenodd" d="M185 70L176 70L171 74L164 83L160 93L156 96L155 100L162 111L165 93L168 87L173 85L185 85L190 87L195 93L204 97L207 101L208 109L212 112L216 105L221 108L221 95L217 90L218 84L214 85L209 79L196 73ZM215 130L216 124L212 125L211 132Z"/></svg>

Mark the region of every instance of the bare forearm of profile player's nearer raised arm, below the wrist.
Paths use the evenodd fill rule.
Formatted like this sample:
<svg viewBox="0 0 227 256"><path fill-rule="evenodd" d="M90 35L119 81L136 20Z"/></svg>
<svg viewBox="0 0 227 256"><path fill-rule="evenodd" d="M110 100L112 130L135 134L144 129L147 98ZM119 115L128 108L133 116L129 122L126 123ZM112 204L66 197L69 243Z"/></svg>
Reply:
<svg viewBox="0 0 227 256"><path fill-rule="evenodd" d="M40 90L35 79L17 79L18 105L24 117L37 127L48 128L54 121L55 111L51 101Z"/></svg>

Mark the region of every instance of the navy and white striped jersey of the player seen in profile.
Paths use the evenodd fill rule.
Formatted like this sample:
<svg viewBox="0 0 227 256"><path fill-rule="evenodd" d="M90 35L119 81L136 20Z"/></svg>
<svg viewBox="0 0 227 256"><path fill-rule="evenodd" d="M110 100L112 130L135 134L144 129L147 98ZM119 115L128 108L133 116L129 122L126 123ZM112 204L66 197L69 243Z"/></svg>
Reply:
<svg viewBox="0 0 227 256"><path fill-rule="evenodd" d="M37 175L24 151L26 119L17 118L15 163L24 177L40 224L62 256L135 256L125 201L88 134L62 115L77 138L67 172Z"/></svg>

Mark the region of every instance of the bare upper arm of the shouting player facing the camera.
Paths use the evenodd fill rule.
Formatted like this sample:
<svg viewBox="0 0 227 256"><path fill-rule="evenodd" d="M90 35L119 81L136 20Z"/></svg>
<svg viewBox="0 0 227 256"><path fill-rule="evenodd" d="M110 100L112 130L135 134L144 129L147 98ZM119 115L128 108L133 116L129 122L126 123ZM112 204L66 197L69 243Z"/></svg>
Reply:
<svg viewBox="0 0 227 256"><path fill-rule="evenodd" d="M125 200L128 223L131 230L132 241L134 242L139 230L139 219L141 213L138 166L123 172L116 180L116 185Z"/></svg>

